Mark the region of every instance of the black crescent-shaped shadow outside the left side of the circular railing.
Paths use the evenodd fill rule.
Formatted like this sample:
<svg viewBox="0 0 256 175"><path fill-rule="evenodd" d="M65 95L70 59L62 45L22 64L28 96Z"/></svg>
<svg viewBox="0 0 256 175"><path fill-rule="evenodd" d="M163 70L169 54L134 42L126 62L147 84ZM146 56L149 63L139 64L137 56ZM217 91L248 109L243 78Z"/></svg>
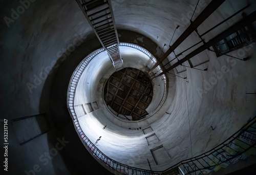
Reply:
<svg viewBox="0 0 256 175"><path fill-rule="evenodd" d="M55 174L112 174L102 167L84 147L67 108L67 91L73 71L84 57L99 48L101 45L98 39L92 38L86 39L86 42L77 46L76 50L69 55L64 53L55 63L44 84L40 112L47 113L47 120L51 127L51 131L47 133L49 148L51 150L59 140L64 142L63 149L58 150L58 156L64 163L54 156L52 159ZM42 165L41 168L47 168L47 165L45 167ZM62 169L66 168L69 172L63 172Z"/></svg>

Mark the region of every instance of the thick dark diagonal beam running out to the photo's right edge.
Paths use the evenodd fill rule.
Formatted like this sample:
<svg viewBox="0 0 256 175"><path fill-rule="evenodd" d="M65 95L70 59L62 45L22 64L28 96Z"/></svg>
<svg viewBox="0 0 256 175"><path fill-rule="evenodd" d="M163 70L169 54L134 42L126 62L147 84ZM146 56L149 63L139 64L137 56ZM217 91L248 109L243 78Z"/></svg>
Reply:
<svg viewBox="0 0 256 175"><path fill-rule="evenodd" d="M169 67L168 69L166 69L165 71L163 71L162 73L157 75L154 79L156 79L157 77L160 77L161 75L165 74L166 72L176 68L178 65L180 65L183 62L187 61L188 59L194 57L195 55L203 52L204 50L206 50L209 47L211 47L212 45L214 45L216 42L219 42L220 40L226 38L227 36L229 36L232 33L238 31L239 29L241 29L241 28L251 24L255 20L256 20L256 11L254 11L251 14L249 14L248 16L244 17L238 23L234 24L233 26L231 26L230 28L228 28L227 30L222 32L221 34L219 34L216 37L212 38L211 40L209 40L208 42L206 42L204 45L200 46L199 48L197 48L193 52L189 53L183 59L179 60L178 62L173 64L171 67Z"/></svg>

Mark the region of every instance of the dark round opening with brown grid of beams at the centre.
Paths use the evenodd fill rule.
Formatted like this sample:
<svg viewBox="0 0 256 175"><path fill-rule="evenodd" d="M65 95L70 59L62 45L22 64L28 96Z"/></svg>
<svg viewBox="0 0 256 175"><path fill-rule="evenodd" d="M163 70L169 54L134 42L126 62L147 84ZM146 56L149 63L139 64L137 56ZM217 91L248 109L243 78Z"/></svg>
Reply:
<svg viewBox="0 0 256 175"><path fill-rule="evenodd" d="M137 121L148 115L146 108L153 98L153 86L145 73L125 68L113 73L105 84L106 105L127 120Z"/></svg>

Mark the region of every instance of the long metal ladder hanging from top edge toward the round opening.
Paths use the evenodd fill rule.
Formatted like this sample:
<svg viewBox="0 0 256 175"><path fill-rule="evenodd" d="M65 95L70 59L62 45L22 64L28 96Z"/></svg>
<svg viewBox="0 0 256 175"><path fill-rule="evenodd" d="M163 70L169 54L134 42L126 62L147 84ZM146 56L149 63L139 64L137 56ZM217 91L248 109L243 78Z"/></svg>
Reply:
<svg viewBox="0 0 256 175"><path fill-rule="evenodd" d="M123 68L119 39L110 0L76 0L115 69Z"/></svg>

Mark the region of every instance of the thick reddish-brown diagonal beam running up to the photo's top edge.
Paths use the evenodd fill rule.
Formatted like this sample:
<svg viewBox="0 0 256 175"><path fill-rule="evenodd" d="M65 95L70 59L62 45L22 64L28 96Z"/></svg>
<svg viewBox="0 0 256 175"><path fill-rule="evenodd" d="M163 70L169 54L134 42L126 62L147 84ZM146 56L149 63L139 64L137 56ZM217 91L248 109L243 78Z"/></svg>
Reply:
<svg viewBox="0 0 256 175"><path fill-rule="evenodd" d="M218 7L224 3L225 0L212 0L207 7L198 15L198 17L191 22L188 28L180 35L180 37L173 43L172 46L163 54L163 56L158 60L154 67L148 72L151 74L154 69L170 54L172 53L195 29L197 29L203 21L210 16Z"/></svg>

